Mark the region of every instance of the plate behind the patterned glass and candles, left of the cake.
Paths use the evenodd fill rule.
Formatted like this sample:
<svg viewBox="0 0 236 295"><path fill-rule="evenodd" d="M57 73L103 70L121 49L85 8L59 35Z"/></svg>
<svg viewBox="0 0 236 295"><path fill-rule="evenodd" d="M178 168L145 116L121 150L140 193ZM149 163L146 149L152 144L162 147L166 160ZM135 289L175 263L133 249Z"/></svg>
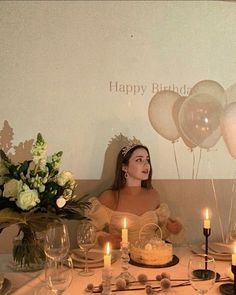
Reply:
<svg viewBox="0 0 236 295"><path fill-rule="evenodd" d="M114 263L118 259L117 253L111 253L111 263ZM88 253L88 267L99 268L104 266L104 252L99 249L92 249ZM71 251L71 258L73 260L74 267L84 268L85 259L84 253L80 249L74 249Z"/></svg>

